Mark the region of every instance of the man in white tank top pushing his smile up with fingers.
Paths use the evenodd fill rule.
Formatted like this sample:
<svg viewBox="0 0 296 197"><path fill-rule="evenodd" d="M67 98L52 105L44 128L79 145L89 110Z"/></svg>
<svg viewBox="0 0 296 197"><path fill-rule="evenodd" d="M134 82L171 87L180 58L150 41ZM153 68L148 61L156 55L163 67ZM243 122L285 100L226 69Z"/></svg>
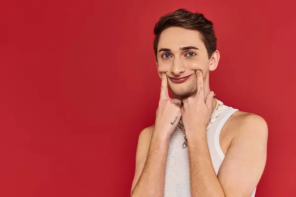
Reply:
<svg viewBox="0 0 296 197"><path fill-rule="evenodd" d="M254 197L268 129L260 116L213 97L209 72L220 54L212 22L179 9L154 34L160 99L155 125L139 136L131 196Z"/></svg>

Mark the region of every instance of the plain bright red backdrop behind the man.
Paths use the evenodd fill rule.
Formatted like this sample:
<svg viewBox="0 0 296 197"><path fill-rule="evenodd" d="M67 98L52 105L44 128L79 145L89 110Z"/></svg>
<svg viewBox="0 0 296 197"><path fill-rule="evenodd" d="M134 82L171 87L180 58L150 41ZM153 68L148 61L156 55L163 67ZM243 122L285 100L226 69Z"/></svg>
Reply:
<svg viewBox="0 0 296 197"><path fill-rule="evenodd" d="M215 24L217 98L268 123L256 197L296 196L292 0L6 0L0 197L129 196L138 134L159 98L153 26L181 7Z"/></svg>

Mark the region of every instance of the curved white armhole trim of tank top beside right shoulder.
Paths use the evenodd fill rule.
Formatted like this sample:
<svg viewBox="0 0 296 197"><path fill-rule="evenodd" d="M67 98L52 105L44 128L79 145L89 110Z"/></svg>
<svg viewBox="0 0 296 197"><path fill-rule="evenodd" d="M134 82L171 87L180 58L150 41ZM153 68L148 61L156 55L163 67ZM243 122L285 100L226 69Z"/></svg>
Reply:
<svg viewBox="0 0 296 197"><path fill-rule="evenodd" d="M225 155L222 151L221 145L220 145L220 133L222 131L222 128L224 126L224 124L226 123L226 121L234 114L234 112L238 111L238 109L234 109L231 108L231 110L222 118L222 120L220 121L216 132L215 132L215 137L214 137L214 145L215 145L215 149L218 153L218 155L220 156L220 158L223 160Z"/></svg>

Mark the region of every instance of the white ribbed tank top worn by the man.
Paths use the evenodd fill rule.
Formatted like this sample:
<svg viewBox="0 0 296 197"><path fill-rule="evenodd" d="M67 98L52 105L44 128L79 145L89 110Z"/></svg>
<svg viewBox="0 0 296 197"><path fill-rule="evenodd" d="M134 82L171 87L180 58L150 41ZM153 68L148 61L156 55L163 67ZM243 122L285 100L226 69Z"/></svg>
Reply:
<svg viewBox="0 0 296 197"><path fill-rule="evenodd" d="M224 105L216 122L207 130L207 140L212 164L216 175L224 159L220 146L220 132L226 121L238 109ZM166 163L164 197L190 197L189 156L188 148L183 148L184 136L176 129L171 136ZM255 197L256 189L251 197Z"/></svg>

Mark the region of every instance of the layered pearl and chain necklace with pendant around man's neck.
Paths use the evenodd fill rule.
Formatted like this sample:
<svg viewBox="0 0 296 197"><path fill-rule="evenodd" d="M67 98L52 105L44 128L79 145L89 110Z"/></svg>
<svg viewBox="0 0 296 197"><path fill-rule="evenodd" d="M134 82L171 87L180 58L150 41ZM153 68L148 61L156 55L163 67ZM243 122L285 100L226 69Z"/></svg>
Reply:
<svg viewBox="0 0 296 197"><path fill-rule="evenodd" d="M216 122L217 117L221 114L221 112L223 110L223 103L218 99L216 99L216 101L217 101L217 104L216 104L216 107L215 107L214 111L212 112L212 114L210 116L210 121L209 121L209 123L208 123L208 125L206 127L206 131L211 129L212 123ZM177 129L185 139L185 141L182 144L182 148L187 148L187 137L186 137L186 134L185 134L185 128L184 128L182 119L179 121L179 124L177 125Z"/></svg>

